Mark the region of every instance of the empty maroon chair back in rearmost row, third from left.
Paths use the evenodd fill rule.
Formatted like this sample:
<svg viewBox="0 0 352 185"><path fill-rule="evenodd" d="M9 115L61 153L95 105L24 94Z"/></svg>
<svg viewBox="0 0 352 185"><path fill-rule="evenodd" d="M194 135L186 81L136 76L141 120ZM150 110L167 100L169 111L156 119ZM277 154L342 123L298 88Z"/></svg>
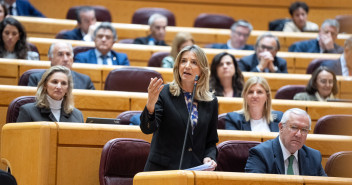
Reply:
<svg viewBox="0 0 352 185"><path fill-rule="evenodd" d="M230 29L235 20L224 14L199 14L194 21L194 27Z"/></svg>

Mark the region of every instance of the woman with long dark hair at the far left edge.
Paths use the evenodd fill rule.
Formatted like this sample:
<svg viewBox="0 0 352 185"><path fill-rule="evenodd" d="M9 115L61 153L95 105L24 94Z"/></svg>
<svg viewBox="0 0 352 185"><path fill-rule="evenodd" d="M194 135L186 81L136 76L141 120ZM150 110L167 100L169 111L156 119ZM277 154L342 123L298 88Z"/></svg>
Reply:
<svg viewBox="0 0 352 185"><path fill-rule="evenodd" d="M39 60L36 52L28 51L27 34L22 24L13 17L0 23L0 58Z"/></svg>

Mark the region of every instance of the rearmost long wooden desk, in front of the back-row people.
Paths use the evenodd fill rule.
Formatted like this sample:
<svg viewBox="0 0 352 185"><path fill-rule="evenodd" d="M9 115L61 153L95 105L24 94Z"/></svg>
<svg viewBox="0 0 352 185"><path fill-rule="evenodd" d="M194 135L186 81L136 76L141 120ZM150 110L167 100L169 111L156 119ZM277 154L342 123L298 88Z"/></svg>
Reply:
<svg viewBox="0 0 352 185"><path fill-rule="evenodd" d="M26 27L28 37L38 38L55 38L56 34L61 30L71 30L76 26L76 21L66 19L52 19L52 18L35 18L17 16L16 19ZM118 39L133 39L137 37L144 37L149 33L149 26L126 23L113 23L112 26L116 29ZM230 38L229 29L208 29L208 28L194 28L194 27L167 27L165 41L171 45L175 35L178 32L189 32L194 37L196 43L200 46L205 46L210 43L226 43ZM248 44L255 45L258 36L267 31L253 30ZM280 41L281 51L288 51L288 47L294 42L301 40L314 39L317 33L285 33L272 32ZM350 37L349 34L339 34L337 44L343 46L344 41Z"/></svg>

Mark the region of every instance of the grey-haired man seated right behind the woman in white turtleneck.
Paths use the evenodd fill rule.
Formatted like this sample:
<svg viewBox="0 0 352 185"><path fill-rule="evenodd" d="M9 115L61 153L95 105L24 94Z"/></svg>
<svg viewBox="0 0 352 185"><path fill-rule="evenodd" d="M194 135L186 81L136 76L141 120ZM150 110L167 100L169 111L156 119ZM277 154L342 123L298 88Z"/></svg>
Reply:
<svg viewBox="0 0 352 185"><path fill-rule="evenodd" d="M74 89L95 89L89 76L72 70L73 50L71 44L65 42L53 43L49 48L48 57L51 66L61 65L71 69ZM44 72L31 74L28 86L37 86Z"/></svg>

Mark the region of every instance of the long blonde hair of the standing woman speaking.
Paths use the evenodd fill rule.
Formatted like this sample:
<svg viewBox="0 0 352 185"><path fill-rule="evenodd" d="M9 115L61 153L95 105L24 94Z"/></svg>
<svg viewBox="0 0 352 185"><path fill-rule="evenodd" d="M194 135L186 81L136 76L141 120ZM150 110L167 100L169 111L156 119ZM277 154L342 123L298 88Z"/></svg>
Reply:
<svg viewBox="0 0 352 185"><path fill-rule="evenodd" d="M204 51L197 45L186 46L177 55L173 69L174 81L170 83L170 93L173 96L179 96L181 93L182 83L179 66L185 52L191 52L196 56L197 64L200 68L200 75L194 98L198 101L212 101L214 96L213 93L209 91L210 70L208 59Z"/></svg>

